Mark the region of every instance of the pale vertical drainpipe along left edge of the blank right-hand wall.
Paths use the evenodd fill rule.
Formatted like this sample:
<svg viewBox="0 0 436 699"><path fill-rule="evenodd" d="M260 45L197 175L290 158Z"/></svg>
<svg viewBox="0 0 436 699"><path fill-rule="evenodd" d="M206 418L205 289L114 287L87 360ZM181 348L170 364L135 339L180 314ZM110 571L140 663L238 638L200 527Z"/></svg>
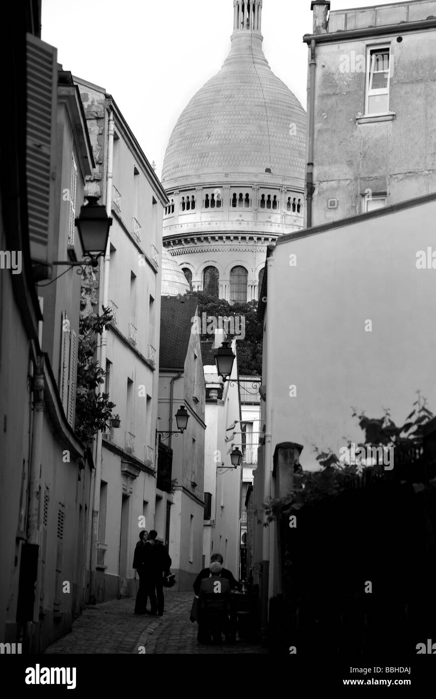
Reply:
<svg viewBox="0 0 436 699"><path fill-rule="evenodd" d="M272 250L267 252L267 308L269 308L269 318L267 312L267 332L265 338L267 366L266 366L266 411L265 411L265 452L263 464L263 501L271 496L271 474L272 474L272 419L273 419L273 354L272 354L272 313L274 312L274 257ZM264 524L266 523L266 515L264 515ZM271 526L271 525L270 525ZM270 526L262 527L262 619L261 619L261 635L265 638L267 635L268 625L268 589L270 586L269 579L272 577L270 552ZM267 585L267 588L265 588Z"/></svg>

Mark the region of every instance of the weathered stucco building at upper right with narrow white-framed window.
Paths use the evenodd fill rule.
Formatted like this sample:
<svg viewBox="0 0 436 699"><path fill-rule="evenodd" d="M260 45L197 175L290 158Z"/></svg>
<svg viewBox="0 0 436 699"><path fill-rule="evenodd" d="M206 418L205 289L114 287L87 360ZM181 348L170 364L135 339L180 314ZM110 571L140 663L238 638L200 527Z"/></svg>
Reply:
<svg viewBox="0 0 436 699"><path fill-rule="evenodd" d="M304 226L435 192L435 1L311 6Z"/></svg>

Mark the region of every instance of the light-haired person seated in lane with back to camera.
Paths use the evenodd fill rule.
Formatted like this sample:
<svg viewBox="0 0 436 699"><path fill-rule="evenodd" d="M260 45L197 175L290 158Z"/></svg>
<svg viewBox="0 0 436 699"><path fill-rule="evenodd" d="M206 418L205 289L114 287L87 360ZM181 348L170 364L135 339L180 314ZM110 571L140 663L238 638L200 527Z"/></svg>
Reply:
<svg viewBox="0 0 436 699"><path fill-rule="evenodd" d="M230 583L223 577L223 566L213 561L209 567L210 576L202 579L199 589L199 630L197 640L208 643L221 643L221 632L226 640L230 638Z"/></svg>

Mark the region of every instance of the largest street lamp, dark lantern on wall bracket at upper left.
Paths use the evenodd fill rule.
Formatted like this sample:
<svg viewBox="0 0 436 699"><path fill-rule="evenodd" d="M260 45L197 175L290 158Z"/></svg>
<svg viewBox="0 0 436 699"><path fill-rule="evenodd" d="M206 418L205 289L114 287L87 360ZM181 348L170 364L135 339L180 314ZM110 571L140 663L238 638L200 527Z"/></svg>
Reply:
<svg viewBox="0 0 436 699"><path fill-rule="evenodd" d="M102 204L97 204L98 196L87 196L87 205L80 207L80 215L75 220L78 229L80 245L83 256L90 257L92 267L98 266L98 258L104 255L108 245L109 229L112 225L112 218L106 214L106 208ZM69 265L70 267L82 267L85 261L56 261L54 265Z"/></svg>

